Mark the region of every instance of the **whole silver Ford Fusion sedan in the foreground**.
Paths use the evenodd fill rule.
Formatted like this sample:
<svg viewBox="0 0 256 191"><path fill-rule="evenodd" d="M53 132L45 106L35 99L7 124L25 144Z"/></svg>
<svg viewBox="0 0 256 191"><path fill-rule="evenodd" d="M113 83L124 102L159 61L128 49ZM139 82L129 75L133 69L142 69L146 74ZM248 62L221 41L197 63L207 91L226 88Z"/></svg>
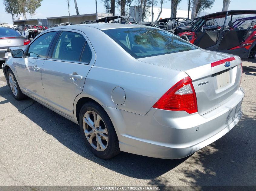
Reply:
<svg viewBox="0 0 256 191"><path fill-rule="evenodd" d="M2 68L13 97L79 124L100 158L184 158L242 116L241 59L155 27L54 27L11 53Z"/></svg>

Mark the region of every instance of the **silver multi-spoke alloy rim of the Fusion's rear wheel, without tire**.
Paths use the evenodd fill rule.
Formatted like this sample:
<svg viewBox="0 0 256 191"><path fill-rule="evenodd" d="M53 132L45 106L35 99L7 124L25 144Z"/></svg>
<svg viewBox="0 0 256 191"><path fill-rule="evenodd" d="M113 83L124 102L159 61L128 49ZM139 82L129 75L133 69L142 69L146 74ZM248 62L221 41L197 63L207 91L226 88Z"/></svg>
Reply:
<svg viewBox="0 0 256 191"><path fill-rule="evenodd" d="M94 111L87 111L83 117L85 136L97 151L104 151L108 146L108 130L101 116Z"/></svg>

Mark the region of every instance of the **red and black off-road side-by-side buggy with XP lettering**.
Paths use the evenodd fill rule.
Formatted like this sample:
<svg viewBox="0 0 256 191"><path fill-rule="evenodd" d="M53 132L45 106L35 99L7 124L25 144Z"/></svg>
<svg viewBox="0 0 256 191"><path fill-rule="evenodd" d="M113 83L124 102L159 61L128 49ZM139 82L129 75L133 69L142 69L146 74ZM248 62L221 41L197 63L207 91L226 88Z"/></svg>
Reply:
<svg viewBox="0 0 256 191"><path fill-rule="evenodd" d="M256 55L256 11L233 10L197 18L188 32L178 36L203 49L240 58Z"/></svg>

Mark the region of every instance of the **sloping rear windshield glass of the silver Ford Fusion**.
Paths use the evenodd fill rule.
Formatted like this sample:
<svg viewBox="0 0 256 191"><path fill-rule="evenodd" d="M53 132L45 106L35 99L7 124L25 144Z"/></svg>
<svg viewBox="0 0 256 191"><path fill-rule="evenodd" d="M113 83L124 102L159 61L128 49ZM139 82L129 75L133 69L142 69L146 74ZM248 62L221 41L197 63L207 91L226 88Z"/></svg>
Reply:
<svg viewBox="0 0 256 191"><path fill-rule="evenodd" d="M157 28L118 28L103 32L137 59L197 49L180 37Z"/></svg>

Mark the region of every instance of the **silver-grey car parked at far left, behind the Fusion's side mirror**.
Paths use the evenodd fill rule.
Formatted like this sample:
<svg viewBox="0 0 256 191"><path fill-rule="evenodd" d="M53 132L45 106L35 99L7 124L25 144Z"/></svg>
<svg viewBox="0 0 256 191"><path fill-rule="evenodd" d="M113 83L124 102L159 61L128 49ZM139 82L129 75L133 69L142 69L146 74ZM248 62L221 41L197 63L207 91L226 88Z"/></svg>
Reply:
<svg viewBox="0 0 256 191"><path fill-rule="evenodd" d="M10 52L7 52L9 47L26 46L30 40L19 35L15 30L7 27L0 27L0 61L5 61Z"/></svg>

